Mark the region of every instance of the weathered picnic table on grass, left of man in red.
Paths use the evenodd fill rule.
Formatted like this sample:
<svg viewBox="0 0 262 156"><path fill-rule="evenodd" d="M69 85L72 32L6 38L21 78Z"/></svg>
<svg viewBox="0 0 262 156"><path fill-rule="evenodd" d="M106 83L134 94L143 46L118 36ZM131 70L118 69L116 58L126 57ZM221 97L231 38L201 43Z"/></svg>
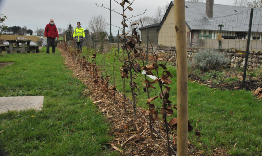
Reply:
<svg viewBox="0 0 262 156"><path fill-rule="evenodd" d="M22 51L22 53L25 53L26 48L25 48L25 44L27 47L30 46L30 42L31 40L6 40L9 42L9 52L13 53L13 51L17 51L20 52ZM19 45L19 43L21 43L21 47ZM16 45L16 47L14 47L13 45Z"/></svg>

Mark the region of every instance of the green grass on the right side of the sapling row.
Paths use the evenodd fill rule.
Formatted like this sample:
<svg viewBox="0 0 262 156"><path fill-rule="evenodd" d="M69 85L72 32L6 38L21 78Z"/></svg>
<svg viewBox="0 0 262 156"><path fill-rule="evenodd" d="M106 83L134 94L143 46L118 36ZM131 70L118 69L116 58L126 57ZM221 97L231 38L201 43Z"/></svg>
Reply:
<svg viewBox="0 0 262 156"><path fill-rule="evenodd" d="M113 73L114 50L105 55L97 54L97 64L105 64L107 74ZM121 57L121 52L119 57ZM92 54L91 54L92 55ZM105 61L103 61L103 59ZM141 62L140 62L141 63ZM117 89L123 92L123 82L120 76L119 67L123 63L115 61L116 84ZM162 62L163 64L163 62ZM111 67L111 69L109 69ZM161 67L159 68L161 69ZM176 67L169 66L168 70L174 78L171 78L172 84L170 98L172 104L177 101L176 89ZM141 86L139 77L135 82ZM150 78L148 78L151 80ZM126 80L126 94L131 99L129 79ZM111 80L111 83L114 83ZM156 86L156 85L155 85ZM157 87L157 86L156 86ZM151 91L151 97L160 94L159 87ZM137 103L137 106L147 109L147 95L143 94ZM158 107L160 102L154 101ZM194 128L199 129L201 137L193 132L189 132L189 141L206 153L212 153L215 148L224 148L228 153L234 156L262 155L262 102L256 99L250 91L235 90L221 91L209 88L206 85L200 85L197 82L188 83L188 113L189 121ZM176 110L174 116L176 117ZM169 120L172 118L170 117Z"/></svg>

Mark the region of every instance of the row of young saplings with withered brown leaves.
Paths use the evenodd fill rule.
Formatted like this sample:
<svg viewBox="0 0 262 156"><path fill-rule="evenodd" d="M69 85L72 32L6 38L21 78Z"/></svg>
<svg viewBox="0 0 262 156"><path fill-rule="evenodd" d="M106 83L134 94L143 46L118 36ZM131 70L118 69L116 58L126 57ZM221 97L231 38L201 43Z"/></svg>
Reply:
<svg viewBox="0 0 262 156"><path fill-rule="evenodd" d="M118 3L117 1L115 1ZM128 34L125 32L125 29L128 27L128 24L126 22L129 22L130 18L135 17L132 16L128 18L125 15L126 10L132 11L133 9L130 7L132 5L132 2L123 0L121 3L118 3L123 8L123 13L118 13L122 15L123 20L121 24L123 27L120 29L122 30L122 34L120 34L118 37L122 42L121 48L123 49L123 55L119 57L116 52L114 55L114 64L113 64L113 71L115 71L116 68L120 70L121 78L123 80L123 96L124 96L124 111L126 111L125 108L125 100L128 100L128 98L125 95L125 88L126 88L126 81L129 82L129 87L131 89L131 95L132 95L132 107L133 107L133 121L132 125L135 126L137 118L141 117L141 115L137 116L137 102L138 102L138 96L141 96L141 94L147 94L147 102L148 105L147 110L142 110L141 112L148 116L149 121L149 128L151 131L151 139L154 139L153 136L153 124L159 120L159 113L162 114L162 118L164 121L163 130L166 133L166 141L167 141L167 148L168 148L168 155L171 155L171 148L170 148L170 140L169 140L169 132L170 130L173 130L177 127L177 118L172 118L170 121L167 121L167 117L170 115L173 115L174 110L176 109L176 105L172 105L171 101L169 101L169 91L171 88L168 86L172 83L172 80L170 78L173 78L170 71L167 69L167 62L168 60L164 61L164 59L158 57L157 53L153 50L152 47L152 53L153 61L150 64L147 64L146 62L146 51L144 51L141 48L141 40L140 36L137 33L137 26L139 23L134 22L131 24L132 27L132 34ZM127 5L125 7L125 5ZM104 7L103 5L101 7ZM105 7L104 7L105 8ZM108 8L107 8L108 9ZM117 12L116 12L117 13ZM149 40L150 41L150 40ZM60 44L61 48L68 51L68 56L72 58L74 62L77 62L80 64L80 67L85 72L87 76L89 76L93 82L96 85L99 85L101 90L104 92L104 94L107 94L107 97L113 97L115 101L116 96L116 78L115 78L115 72L111 76L107 76L107 69L105 67L105 57L102 57L102 64L101 66L96 65L96 54L89 53L89 56L83 56L81 50L72 50L68 46L67 43ZM102 54L103 55L103 54ZM121 62L122 66L116 67L115 61ZM142 62L142 63L139 63ZM159 63L160 62L160 63ZM164 62L163 64L161 62ZM159 68L162 68L163 70L160 70ZM110 69L111 70L111 69ZM142 73L143 71L143 73ZM134 82L134 78L137 77L136 73L142 73L141 79L143 79L143 90L141 89L141 86L137 85L137 83ZM155 79L148 80L148 76L155 76ZM113 79L114 85L112 87L109 87L109 80ZM159 85L159 90L154 86L154 84ZM159 96L151 97L150 92L160 92ZM152 103L153 100L160 99L161 101L161 108L158 108L155 104ZM188 131L192 131L193 127L190 125L190 122L188 122ZM200 133L197 129L195 129L196 135L200 136Z"/></svg>

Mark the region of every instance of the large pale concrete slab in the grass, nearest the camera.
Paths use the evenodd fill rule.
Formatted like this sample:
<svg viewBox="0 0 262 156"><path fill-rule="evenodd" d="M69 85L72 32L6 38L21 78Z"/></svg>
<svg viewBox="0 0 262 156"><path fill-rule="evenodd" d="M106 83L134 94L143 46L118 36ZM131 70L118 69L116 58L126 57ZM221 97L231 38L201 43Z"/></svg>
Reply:
<svg viewBox="0 0 262 156"><path fill-rule="evenodd" d="M26 96L26 97L0 97L0 113L8 110L25 110L34 108L40 110L43 108L44 96Z"/></svg>

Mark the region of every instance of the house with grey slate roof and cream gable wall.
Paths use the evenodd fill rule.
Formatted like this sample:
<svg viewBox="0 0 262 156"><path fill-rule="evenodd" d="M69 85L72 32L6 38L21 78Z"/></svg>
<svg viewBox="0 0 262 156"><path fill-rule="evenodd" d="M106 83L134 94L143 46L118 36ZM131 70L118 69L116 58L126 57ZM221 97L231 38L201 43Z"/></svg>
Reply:
<svg viewBox="0 0 262 156"><path fill-rule="evenodd" d="M207 0L209 3L209 0ZM220 4L206 5L200 2L185 2L185 21L187 31L187 46L192 47L198 39L216 39L219 33L219 24L223 24L222 38L247 39L250 9L246 7L227 6ZM174 1L169 7L157 28L158 44L175 46L174 28ZM259 11L254 9L254 14L261 17ZM262 11L261 11L262 12ZM253 18L251 39L262 38L261 18ZM144 34L141 38L144 38Z"/></svg>

